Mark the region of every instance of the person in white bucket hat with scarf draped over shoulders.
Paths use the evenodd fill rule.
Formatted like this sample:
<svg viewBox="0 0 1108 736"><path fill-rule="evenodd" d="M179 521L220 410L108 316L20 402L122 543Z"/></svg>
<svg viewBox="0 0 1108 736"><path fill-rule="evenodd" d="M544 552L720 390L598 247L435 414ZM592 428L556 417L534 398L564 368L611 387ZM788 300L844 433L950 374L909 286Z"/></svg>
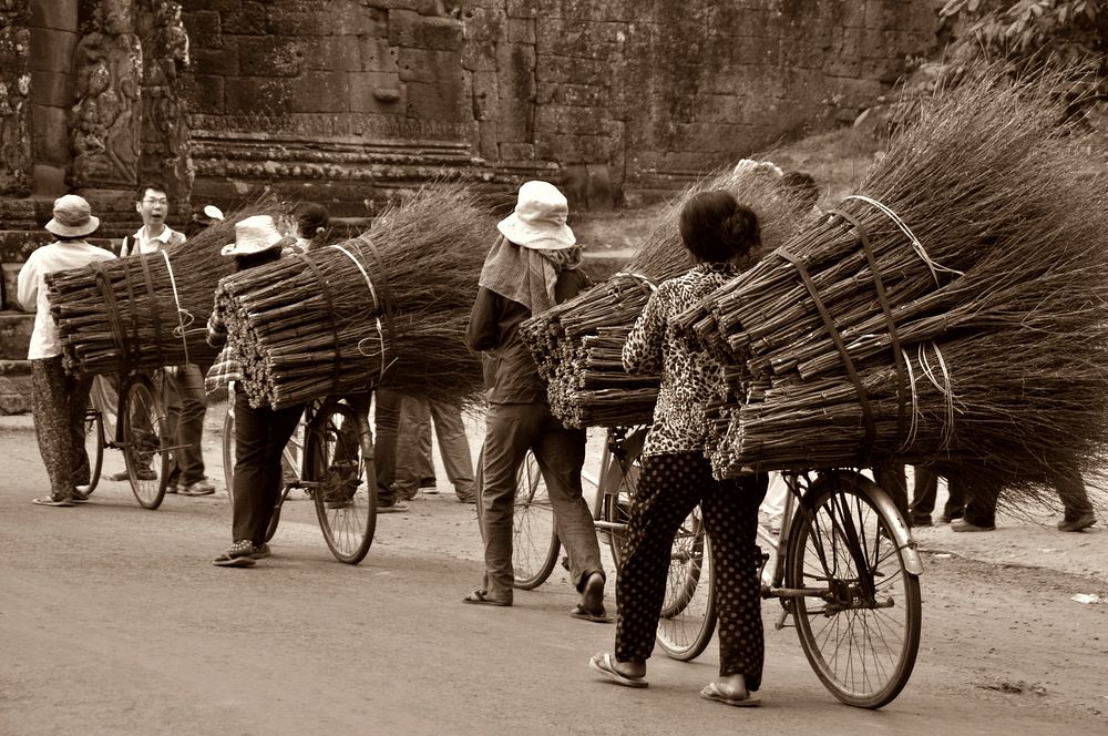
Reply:
<svg viewBox="0 0 1108 736"><path fill-rule="evenodd" d="M604 622L604 568L588 504L582 498L585 431L551 413L546 388L520 337L520 324L570 299L586 285L581 248L566 225L568 205L553 184L526 182L515 211L496 228L470 315L469 344L485 355L489 413L479 502L485 575L468 603L512 605L512 512L527 450L546 481L570 576L581 594L571 615Z"/></svg>

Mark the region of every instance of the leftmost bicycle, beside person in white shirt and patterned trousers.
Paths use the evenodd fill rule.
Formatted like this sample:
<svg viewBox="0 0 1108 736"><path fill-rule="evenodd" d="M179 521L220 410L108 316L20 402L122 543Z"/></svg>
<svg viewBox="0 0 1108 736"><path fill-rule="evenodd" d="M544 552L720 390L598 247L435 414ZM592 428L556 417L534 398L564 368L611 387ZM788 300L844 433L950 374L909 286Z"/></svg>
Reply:
<svg viewBox="0 0 1108 736"><path fill-rule="evenodd" d="M92 493L100 481L104 448L120 450L135 500L142 508L155 510L165 499L172 453L181 447L172 444L166 411L171 398L178 395L175 371L173 367L157 368L150 375L131 371L122 374L117 384L122 390L116 391L113 439L109 439L104 427L104 412L110 409L106 390L93 392L85 412L85 452L91 471L85 492Z"/></svg>

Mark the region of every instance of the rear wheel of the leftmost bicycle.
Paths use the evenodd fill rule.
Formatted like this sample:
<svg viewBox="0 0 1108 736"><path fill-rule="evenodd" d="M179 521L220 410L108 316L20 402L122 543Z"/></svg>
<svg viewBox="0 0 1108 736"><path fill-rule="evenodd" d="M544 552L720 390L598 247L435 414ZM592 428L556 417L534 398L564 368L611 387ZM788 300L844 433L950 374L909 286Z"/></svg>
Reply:
<svg viewBox="0 0 1108 736"><path fill-rule="evenodd" d="M123 457L131 490L144 509L156 509L165 498L170 453L165 450L165 410L154 384L143 375L131 377L123 406Z"/></svg>

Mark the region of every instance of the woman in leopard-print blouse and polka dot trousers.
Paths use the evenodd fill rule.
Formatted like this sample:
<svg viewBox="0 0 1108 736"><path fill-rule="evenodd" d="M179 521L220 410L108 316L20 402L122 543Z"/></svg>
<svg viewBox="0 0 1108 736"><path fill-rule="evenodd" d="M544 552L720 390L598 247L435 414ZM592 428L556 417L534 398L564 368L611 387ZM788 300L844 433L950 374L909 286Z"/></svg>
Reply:
<svg viewBox="0 0 1108 736"><path fill-rule="evenodd" d="M711 540L719 609L719 678L700 696L756 705L751 693L761 686L765 658L758 507L769 478L712 477L705 456L705 406L717 396L722 368L708 352L690 350L675 336L671 321L737 275L732 262L760 245L760 228L758 216L733 194L714 190L686 203L680 235L697 265L650 295L623 349L628 372L660 372L661 382L616 580L615 652L594 655L589 666L619 685L646 687L646 661L654 652L674 535L699 504Z"/></svg>

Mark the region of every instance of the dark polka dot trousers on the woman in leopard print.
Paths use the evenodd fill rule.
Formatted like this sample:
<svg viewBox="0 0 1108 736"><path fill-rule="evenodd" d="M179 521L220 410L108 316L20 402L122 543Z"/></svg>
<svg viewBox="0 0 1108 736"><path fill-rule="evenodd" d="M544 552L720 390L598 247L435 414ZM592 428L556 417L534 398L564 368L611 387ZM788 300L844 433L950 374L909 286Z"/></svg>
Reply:
<svg viewBox="0 0 1108 736"><path fill-rule="evenodd" d="M616 582L616 660L645 662L654 651L674 535L699 503L716 576L719 674L745 675L747 687L758 689L765 640L756 540L768 485L765 473L717 481L699 452L643 458Z"/></svg>

